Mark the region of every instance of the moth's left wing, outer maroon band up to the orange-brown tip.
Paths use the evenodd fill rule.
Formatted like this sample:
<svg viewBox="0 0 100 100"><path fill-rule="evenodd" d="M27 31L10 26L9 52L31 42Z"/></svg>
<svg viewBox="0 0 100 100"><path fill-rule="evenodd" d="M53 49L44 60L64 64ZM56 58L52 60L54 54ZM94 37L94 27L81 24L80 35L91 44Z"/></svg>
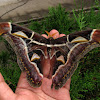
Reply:
<svg viewBox="0 0 100 100"><path fill-rule="evenodd" d="M46 40L44 37L27 28L16 24L0 23L0 35L8 41L17 55L17 61L22 71L26 71L29 83L33 87L39 87L42 84L43 75L40 73L37 64L31 62L28 52L31 46L35 49L40 41Z"/></svg>

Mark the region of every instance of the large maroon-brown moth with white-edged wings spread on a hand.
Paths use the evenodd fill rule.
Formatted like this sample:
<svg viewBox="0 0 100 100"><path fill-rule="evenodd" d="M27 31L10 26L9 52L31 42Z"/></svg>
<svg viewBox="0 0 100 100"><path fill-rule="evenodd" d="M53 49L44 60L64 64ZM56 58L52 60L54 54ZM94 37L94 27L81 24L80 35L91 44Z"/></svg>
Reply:
<svg viewBox="0 0 100 100"><path fill-rule="evenodd" d="M52 79L52 88L63 87L78 67L79 60L90 50L100 47L98 29L46 39L27 28L3 22L0 23L0 35L14 49L18 65L26 71L33 87L41 86L43 77ZM47 60L49 67L45 66Z"/></svg>

